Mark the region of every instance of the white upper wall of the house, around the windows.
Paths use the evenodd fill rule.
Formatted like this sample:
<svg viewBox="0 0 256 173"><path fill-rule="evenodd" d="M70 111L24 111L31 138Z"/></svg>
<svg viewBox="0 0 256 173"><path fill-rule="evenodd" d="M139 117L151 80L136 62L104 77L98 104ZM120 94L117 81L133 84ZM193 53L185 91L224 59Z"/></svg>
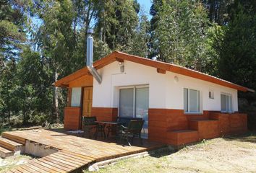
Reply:
<svg viewBox="0 0 256 173"><path fill-rule="evenodd" d="M139 63L124 61L124 73L121 74L119 63L110 63L101 68L102 83L93 80L93 107L118 107L119 86L149 85L149 107L184 109L183 89L200 90L202 110L221 110L221 92L232 94L233 111L238 110L237 90L208 81L194 79L189 76L174 74L158 74L156 68ZM174 80L177 76L179 81ZM209 91L214 92L214 99L208 97Z"/></svg>

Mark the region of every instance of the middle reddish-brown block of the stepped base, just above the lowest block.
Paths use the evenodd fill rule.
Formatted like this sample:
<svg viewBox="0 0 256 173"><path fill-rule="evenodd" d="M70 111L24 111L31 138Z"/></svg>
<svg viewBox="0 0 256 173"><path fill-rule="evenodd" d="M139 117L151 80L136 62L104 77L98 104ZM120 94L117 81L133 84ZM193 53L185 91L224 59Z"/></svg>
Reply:
<svg viewBox="0 0 256 173"><path fill-rule="evenodd" d="M189 120L189 129L197 130L200 140L219 136L218 120Z"/></svg>

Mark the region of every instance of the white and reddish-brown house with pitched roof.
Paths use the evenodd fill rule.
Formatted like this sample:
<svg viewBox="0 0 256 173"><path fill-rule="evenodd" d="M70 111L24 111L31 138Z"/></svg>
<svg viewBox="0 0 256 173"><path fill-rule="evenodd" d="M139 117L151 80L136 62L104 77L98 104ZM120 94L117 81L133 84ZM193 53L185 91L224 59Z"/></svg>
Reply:
<svg viewBox="0 0 256 173"><path fill-rule="evenodd" d="M93 71L85 67L54 83L68 89L66 129L80 129L82 116L142 117L144 138L174 146L247 130L237 92L252 89L119 51L87 64Z"/></svg>

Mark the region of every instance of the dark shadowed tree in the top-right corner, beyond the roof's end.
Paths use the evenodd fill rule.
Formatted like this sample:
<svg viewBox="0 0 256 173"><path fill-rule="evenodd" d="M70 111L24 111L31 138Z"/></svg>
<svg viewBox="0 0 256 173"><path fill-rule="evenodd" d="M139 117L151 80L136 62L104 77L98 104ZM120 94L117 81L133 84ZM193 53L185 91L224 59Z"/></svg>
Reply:
<svg viewBox="0 0 256 173"><path fill-rule="evenodd" d="M223 79L256 89L256 2L236 0L220 50Z"/></svg>

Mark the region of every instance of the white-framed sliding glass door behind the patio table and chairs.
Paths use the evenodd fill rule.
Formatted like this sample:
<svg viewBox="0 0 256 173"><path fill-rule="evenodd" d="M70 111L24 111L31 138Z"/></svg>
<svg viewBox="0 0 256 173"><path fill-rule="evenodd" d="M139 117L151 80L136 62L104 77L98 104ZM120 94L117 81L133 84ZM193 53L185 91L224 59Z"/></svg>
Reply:
<svg viewBox="0 0 256 173"><path fill-rule="evenodd" d="M142 137L148 138L148 86L133 86L120 89L119 116L141 117L145 120L142 128Z"/></svg>

